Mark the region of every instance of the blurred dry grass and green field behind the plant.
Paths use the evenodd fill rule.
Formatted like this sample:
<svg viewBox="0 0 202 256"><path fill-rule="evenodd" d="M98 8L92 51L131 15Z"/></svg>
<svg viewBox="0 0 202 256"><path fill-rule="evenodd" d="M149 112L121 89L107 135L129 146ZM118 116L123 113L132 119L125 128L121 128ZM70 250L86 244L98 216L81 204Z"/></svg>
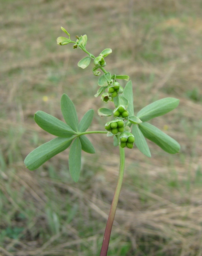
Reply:
<svg viewBox="0 0 202 256"><path fill-rule="evenodd" d="M181 145L170 155L148 141L151 158L126 149L125 178L108 255L202 255L202 2L201 0L0 0L0 255L99 255L119 171L112 138L92 134L96 154L82 153L74 183L69 149L36 171L25 157L54 138L34 122L37 110L63 120L60 98L79 120L93 108L93 65L73 44L59 46L64 27L87 34L87 50L106 57L111 74L129 75L135 113L164 97L179 106L152 124ZM76 40L76 39L75 39ZM124 86L126 81L121 81ZM108 105L110 107L110 104Z"/></svg>

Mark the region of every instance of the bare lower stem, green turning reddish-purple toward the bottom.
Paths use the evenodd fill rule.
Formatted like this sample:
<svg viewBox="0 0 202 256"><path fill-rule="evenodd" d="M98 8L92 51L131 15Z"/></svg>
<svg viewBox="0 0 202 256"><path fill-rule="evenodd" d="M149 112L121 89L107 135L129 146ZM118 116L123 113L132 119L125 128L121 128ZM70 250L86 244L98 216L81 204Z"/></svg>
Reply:
<svg viewBox="0 0 202 256"><path fill-rule="evenodd" d="M116 212L116 206L119 201L119 195L121 192L122 182L123 182L123 178L124 178L125 151L124 151L124 148L122 148L120 145L119 145L119 151L120 151L119 177L117 180L116 189L114 192L114 196L113 196L113 200L112 200L111 208L110 208L110 212L109 212L109 217L107 220L107 225L106 225L105 232L104 232L104 238L103 238L103 242L102 242L100 256L107 255L111 229L112 229L113 220L114 220L114 216L115 216L115 212Z"/></svg>

